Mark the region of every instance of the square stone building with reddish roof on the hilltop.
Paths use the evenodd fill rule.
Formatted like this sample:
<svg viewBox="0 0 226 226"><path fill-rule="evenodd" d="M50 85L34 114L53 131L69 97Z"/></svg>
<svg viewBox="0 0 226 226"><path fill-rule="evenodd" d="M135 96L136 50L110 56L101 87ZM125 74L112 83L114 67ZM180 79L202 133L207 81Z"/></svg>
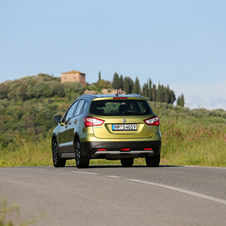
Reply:
<svg viewBox="0 0 226 226"><path fill-rule="evenodd" d="M64 82L81 82L86 86L86 74L75 70L61 73L61 83Z"/></svg>

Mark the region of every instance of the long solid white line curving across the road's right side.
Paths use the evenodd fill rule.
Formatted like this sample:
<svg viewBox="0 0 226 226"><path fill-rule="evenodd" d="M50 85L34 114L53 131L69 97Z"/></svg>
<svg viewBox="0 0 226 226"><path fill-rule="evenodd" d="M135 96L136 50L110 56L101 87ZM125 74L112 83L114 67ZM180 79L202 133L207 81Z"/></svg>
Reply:
<svg viewBox="0 0 226 226"><path fill-rule="evenodd" d="M210 200L210 201L214 201L214 202L218 202L218 203L226 205L226 200L224 200L224 199L214 198L214 197L209 196L209 195L203 195L201 193L185 190L185 189L182 189L182 188L172 187L172 186L168 186L168 185L164 185L164 184L158 184L158 183L153 183L153 182L143 181L143 180L136 180L136 179L127 179L127 180L132 181L132 182L157 186L157 187L161 187L161 188L166 188L166 189L170 189L170 190L173 190L173 191L178 191L178 192L181 192L181 193L193 195L193 196L196 196L196 197L199 197L199 198L207 199L207 200Z"/></svg>

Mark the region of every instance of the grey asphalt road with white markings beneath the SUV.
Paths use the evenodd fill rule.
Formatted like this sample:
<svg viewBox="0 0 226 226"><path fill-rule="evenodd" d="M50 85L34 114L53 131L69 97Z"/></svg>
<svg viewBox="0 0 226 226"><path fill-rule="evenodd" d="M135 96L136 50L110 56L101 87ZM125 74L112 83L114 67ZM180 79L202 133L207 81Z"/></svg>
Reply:
<svg viewBox="0 0 226 226"><path fill-rule="evenodd" d="M0 196L39 226L226 225L226 168L1 168Z"/></svg>

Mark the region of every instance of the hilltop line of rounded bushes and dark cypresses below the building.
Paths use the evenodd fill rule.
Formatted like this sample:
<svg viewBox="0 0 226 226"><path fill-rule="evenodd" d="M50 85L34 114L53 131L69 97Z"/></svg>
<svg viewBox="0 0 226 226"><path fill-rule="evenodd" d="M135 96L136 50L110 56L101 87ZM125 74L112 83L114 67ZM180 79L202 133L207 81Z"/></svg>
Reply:
<svg viewBox="0 0 226 226"><path fill-rule="evenodd" d="M25 101L33 98L66 97L73 100L75 96L81 95L85 89L94 89L101 92L101 88L122 89L127 94L136 93L144 96L149 101L165 102L173 104L176 100L175 93L169 85L158 86L147 80L143 86L140 85L138 77L135 82L130 77L113 76L113 81L101 79L101 72L98 74L98 81L93 84L87 83L83 87L80 82L61 83L60 77L50 76L40 73L37 76L28 76L14 81L6 81L0 84L0 99L15 101ZM177 105L184 107L185 100L183 94L178 97Z"/></svg>

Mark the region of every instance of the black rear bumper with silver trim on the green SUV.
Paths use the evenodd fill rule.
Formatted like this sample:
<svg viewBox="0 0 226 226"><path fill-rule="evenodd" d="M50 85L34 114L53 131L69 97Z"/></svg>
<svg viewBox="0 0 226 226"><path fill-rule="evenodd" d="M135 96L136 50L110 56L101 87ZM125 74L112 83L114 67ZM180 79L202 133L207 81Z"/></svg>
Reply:
<svg viewBox="0 0 226 226"><path fill-rule="evenodd" d="M81 142L81 148L83 154L92 159L151 157L160 154L161 141ZM130 151L121 151L121 148L130 148ZM145 148L152 150L145 150ZM98 151L98 149L102 150Z"/></svg>

